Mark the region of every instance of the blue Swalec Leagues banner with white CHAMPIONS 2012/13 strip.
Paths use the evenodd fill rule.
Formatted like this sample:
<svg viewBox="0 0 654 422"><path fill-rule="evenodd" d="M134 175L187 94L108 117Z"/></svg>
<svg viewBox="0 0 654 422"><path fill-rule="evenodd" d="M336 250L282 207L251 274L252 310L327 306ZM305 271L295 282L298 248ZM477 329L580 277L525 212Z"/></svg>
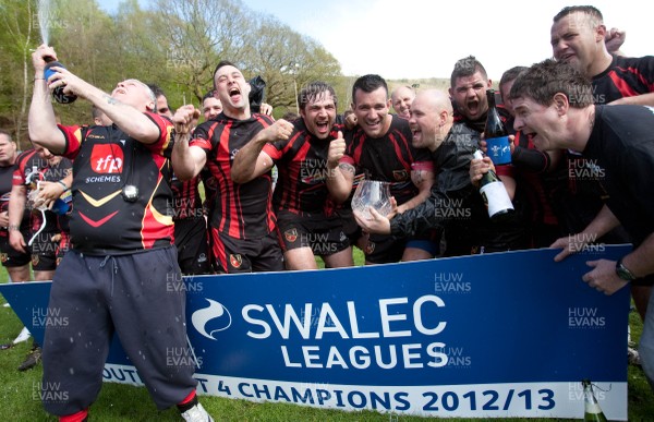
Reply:
<svg viewBox="0 0 654 422"><path fill-rule="evenodd" d="M629 250L189 277L192 350L167 360L196 366L201 394L434 417L582 418L590 378L627 420L629 289L581 276ZM57 323L49 287L0 286L37 339ZM105 379L141 383L118 340Z"/></svg>

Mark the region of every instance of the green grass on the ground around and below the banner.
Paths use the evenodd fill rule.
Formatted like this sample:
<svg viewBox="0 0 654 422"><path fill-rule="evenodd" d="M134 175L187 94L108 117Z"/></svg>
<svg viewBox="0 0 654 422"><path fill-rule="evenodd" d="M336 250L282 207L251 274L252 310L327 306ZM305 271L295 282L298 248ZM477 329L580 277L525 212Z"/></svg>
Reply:
<svg viewBox="0 0 654 422"><path fill-rule="evenodd" d="M355 262L361 265L363 254L355 250ZM4 272L0 282L7 281ZM0 297L1 298L1 297ZM0 299L4 303L4 299ZM638 341L642 331L639 315L630 315L631 336ZM11 341L21 330L22 324L10 308L0 306L0 342ZM57 421L48 415L38 398L41 365L19 372L16 369L32 346L26 341L12 349L0 351L0 407L1 421ZM651 421L654 415L654 397L640 367L629 366L629 420ZM382 414L373 411L344 412L323 410L286 403L257 403L246 400L218 397L201 397L203 406L217 421L424 421L425 418ZM92 421L180 421L175 409L158 411L143 387L106 383L98 400L90 409ZM455 421L479 421L479 419L452 419ZM509 419L509 421L547 421L547 419Z"/></svg>

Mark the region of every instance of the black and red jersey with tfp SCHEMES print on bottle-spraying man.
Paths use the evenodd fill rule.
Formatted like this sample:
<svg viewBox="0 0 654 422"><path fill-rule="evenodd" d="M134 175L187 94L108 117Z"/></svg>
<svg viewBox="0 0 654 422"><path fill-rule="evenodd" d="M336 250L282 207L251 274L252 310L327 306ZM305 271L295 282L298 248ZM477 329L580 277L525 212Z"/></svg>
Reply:
<svg viewBox="0 0 654 422"><path fill-rule="evenodd" d="M145 113L159 138L144 144L117 125L59 126L64 156L73 161L73 249L109 255L170 246L173 243L170 153L172 123ZM125 186L135 186L128 201Z"/></svg>

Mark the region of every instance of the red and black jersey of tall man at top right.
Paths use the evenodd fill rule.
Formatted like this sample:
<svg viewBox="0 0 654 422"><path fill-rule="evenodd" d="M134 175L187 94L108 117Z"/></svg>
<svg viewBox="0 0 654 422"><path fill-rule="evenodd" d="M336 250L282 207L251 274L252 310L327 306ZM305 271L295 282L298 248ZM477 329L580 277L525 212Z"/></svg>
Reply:
<svg viewBox="0 0 654 422"><path fill-rule="evenodd" d="M654 56L614 56L610 65L592 80L595 104L654 93Z"/></svg>

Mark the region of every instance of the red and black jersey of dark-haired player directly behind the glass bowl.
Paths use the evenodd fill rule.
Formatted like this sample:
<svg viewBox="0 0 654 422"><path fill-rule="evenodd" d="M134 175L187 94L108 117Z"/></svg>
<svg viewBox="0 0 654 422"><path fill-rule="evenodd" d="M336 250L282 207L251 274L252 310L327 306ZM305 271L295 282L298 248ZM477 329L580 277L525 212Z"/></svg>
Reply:
<svg viewBox="0 0 654 422"><path fill-rule="evenodd" d="M414 148L413 134L405 119L392 116L388 132L382 137L370 138L361 128L346 133L347 149L341 162L365 173L365 179L390 183L390 194L398 205L417 194L411 181L411 170L433 169L429 152Z"/></svg>

